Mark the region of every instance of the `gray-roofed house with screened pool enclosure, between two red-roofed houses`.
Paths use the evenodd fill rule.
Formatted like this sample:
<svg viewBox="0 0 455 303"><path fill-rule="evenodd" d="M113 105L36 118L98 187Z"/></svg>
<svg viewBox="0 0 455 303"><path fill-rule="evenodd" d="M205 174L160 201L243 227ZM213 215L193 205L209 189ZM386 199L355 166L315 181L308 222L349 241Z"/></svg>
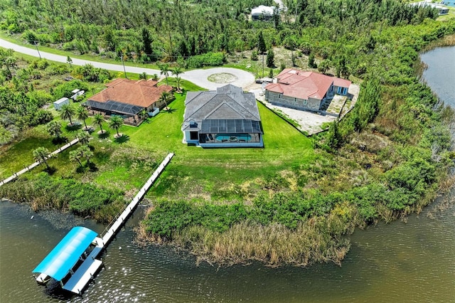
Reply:
<svg viewBox="0 0 455 303"><path fill-rule="evenodd" d="M264 147L255 95L234 85L188 92L183 143L200 147Z"/></svg>

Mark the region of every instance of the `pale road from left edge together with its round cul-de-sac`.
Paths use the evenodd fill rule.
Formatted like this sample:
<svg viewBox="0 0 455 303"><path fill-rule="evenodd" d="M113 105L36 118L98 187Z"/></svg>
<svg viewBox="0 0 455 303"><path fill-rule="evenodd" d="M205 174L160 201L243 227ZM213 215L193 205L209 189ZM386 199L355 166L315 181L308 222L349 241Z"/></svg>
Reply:
<svg viewBox="0 0 455 303"><path fill-rule="evenodd" d="M26 48L24 46L18 46L17 44L11 43L9 41L0 39L0 46L2 48L12 48L18 53L24 53L26 55L33 55L38 57L38 51L35 48ZM66 63L66 57L64 55L55 55L53 53L45 53L40 50L41 58L48 60L53 60L61 63ZM105 68L107 70L115 70L117 72L123 72L123 65L111 64L111 63L102 63L78 58L71 58L73 60L73 65L85 65L87 63L92 64L95 68ZM125 65L127 73L146 73L147 75L159 75L160 70L154 70L151 68L136 68L133 66ZM245 70L238 70L237 68L209 68L206 70L188 70L185 73L181 74L181 78L184 80L191 81L192 83L207 88L208 90L216 90L217 87L221 87L228 83L213 83L210 82L207 78L210 75L215 73L230 73L235 75L237 80L231 82L232 85L240 86L242 88L255 83L255 76L251 73L245 72Z"/></svg>

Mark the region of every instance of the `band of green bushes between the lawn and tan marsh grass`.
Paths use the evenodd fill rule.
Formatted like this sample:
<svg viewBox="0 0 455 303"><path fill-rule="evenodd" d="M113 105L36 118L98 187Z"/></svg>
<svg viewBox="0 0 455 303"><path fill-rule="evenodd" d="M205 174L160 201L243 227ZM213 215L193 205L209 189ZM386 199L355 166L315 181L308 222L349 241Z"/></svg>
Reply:
<svg viewBox="0 0 455 303"><path fill-rule="evenodd" d="M395 214L414 206L425 191L434 190L436 167L429 160L414 159L387 171L382 183L352 188L346 192L323 194L318 190L268 193L254 199L251 206L198 204L191 201L159 201L146 219L147 230L168 239L191 225L224 232L235 223L249 220L262 225L279 223L295 229L299 222L326 216L336 206L354 205L365 223L385 218L383 208ZM352 218L351 218L352 219ZM390 218L385 218L390 220Z"/></svg>

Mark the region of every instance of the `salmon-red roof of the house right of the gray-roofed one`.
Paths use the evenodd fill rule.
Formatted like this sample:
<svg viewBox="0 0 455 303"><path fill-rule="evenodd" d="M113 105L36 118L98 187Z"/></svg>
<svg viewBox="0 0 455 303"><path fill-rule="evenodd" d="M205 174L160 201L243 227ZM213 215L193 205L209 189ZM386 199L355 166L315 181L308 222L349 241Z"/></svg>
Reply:
<svg viewBox="0 0 455 303"><path fill-rule="evenodd" d="M271 92L285 96L308 100L310 97L321 100L332 83L336 86L349 87L350 81L314 72L285 68L277 75L278 83L265 87Z"/></svg>

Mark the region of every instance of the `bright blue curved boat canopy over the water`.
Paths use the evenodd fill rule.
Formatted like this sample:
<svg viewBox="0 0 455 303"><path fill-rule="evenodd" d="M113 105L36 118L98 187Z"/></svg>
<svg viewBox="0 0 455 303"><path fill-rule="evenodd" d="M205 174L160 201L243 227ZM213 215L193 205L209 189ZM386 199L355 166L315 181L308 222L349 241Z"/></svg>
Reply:
<svg viewBox="0 0 455 303"><path fill-rule="evenodd" d="M33 273L45 274L57 281L62 280L96 237L97 233L88 228L82 226L73 228L33 270Z"/></svg>

